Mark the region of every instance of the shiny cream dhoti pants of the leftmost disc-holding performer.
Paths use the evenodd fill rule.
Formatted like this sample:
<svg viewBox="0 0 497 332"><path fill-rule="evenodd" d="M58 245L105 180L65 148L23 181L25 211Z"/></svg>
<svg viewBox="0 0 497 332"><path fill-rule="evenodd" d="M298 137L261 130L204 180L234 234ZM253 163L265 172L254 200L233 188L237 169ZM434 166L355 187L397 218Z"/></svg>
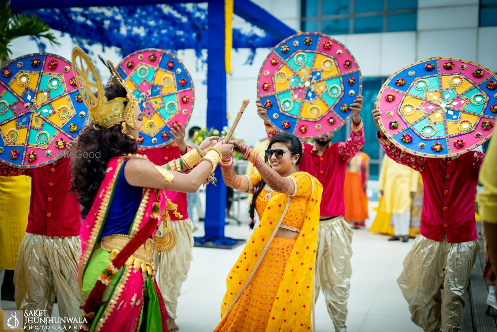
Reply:
<svg viewBox="0 0 497 332"><path fill-rule="evenodd" d="M57 296L60 317L79 319L78 259L80 237L49 237L26 233L19 247L14 271L15 304L19 310L47 310ZM66 331L78 331L70 329ZM41 329L24 331L45 331Z"/></svg>

